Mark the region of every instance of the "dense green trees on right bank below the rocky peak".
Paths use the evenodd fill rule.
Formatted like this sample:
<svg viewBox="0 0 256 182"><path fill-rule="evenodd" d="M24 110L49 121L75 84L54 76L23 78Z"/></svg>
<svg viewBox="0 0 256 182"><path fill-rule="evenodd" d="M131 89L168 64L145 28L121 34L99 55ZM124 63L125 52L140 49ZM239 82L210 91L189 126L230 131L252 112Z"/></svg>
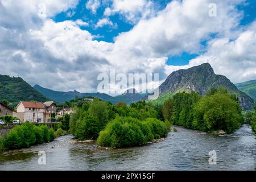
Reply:
<svg viewBox="0 0 256 182"><path fill-rule="evenodd" d="M199 93L177 93L163 106L166 121L201 131L238 129L243 122L237 98L224 88L211 89L205 97Z"/></svg>

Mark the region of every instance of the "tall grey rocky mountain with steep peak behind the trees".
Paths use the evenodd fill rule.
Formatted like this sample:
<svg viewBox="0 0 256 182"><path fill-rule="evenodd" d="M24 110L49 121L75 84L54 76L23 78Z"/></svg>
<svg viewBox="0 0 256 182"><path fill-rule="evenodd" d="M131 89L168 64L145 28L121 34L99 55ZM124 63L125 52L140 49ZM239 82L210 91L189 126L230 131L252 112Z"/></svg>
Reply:
<svg viewBox="0 0 256 182"><path fill-rule="evenodd" d="M159 95L195 91L204 96L211 88L220 86L228 89L229 93L237 95L243 110L253 109L253 98L238 90L236 85L225 76L216 75L209 63L172 72L159 86Z"/></svg>

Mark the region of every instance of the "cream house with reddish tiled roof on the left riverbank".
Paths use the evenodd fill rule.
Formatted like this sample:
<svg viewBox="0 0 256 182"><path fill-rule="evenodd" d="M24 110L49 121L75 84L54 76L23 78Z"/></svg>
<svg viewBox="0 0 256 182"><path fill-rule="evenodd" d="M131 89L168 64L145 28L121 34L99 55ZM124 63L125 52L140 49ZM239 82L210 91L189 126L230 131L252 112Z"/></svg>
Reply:
<svg viewBox="0 0 256 182"><path fill-rule="evenodd" d="M19 102L14 117L19 118L20 122L46 123L51 121L51 113L41 102Z"/></svg>

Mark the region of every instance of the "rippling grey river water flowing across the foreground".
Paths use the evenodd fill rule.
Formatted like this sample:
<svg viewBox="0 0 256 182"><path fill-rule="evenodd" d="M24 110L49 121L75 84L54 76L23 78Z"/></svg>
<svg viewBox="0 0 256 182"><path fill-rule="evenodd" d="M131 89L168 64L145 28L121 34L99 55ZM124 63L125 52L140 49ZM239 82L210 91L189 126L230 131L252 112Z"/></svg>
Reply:
<svg viewBox="0 0 256 182"><path fill-rule="evenodd" d="M254 170L255 136L243 125L231 135L216 136L175 126L159 143L106 150L96 144L74 143L72 135L51 143L0 155L0 170ZM216 151L210 165L209 151ZM39 165L39 151L46 152L46 165Z"/></svg>

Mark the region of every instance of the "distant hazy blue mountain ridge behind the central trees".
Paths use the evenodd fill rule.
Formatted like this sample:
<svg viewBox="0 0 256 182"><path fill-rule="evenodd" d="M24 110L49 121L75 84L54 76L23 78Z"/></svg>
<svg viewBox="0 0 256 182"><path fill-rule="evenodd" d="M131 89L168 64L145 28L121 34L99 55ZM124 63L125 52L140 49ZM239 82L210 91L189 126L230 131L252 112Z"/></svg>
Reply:
<svg viewBox="0 0 256 182"><path fill-rule="evenodd" d="M112 104L117 104L118 102L126 102L127 104L131 104L131 102L137 102L139 100L142 100L142 97L140 96L140 94L137 93L137 91L134 93L127 93L128 90L126 91L126 93L123 93L120 96L112 97L104 93L80 93L76 90L73 92L57 92L51 89L43 88L39 85L35 85L34 89L42 93L47 98L50 98L51 100L56 102L71 101L75 97L82 98L88 96L97 97L102 101L111 102Z"/></svg>

